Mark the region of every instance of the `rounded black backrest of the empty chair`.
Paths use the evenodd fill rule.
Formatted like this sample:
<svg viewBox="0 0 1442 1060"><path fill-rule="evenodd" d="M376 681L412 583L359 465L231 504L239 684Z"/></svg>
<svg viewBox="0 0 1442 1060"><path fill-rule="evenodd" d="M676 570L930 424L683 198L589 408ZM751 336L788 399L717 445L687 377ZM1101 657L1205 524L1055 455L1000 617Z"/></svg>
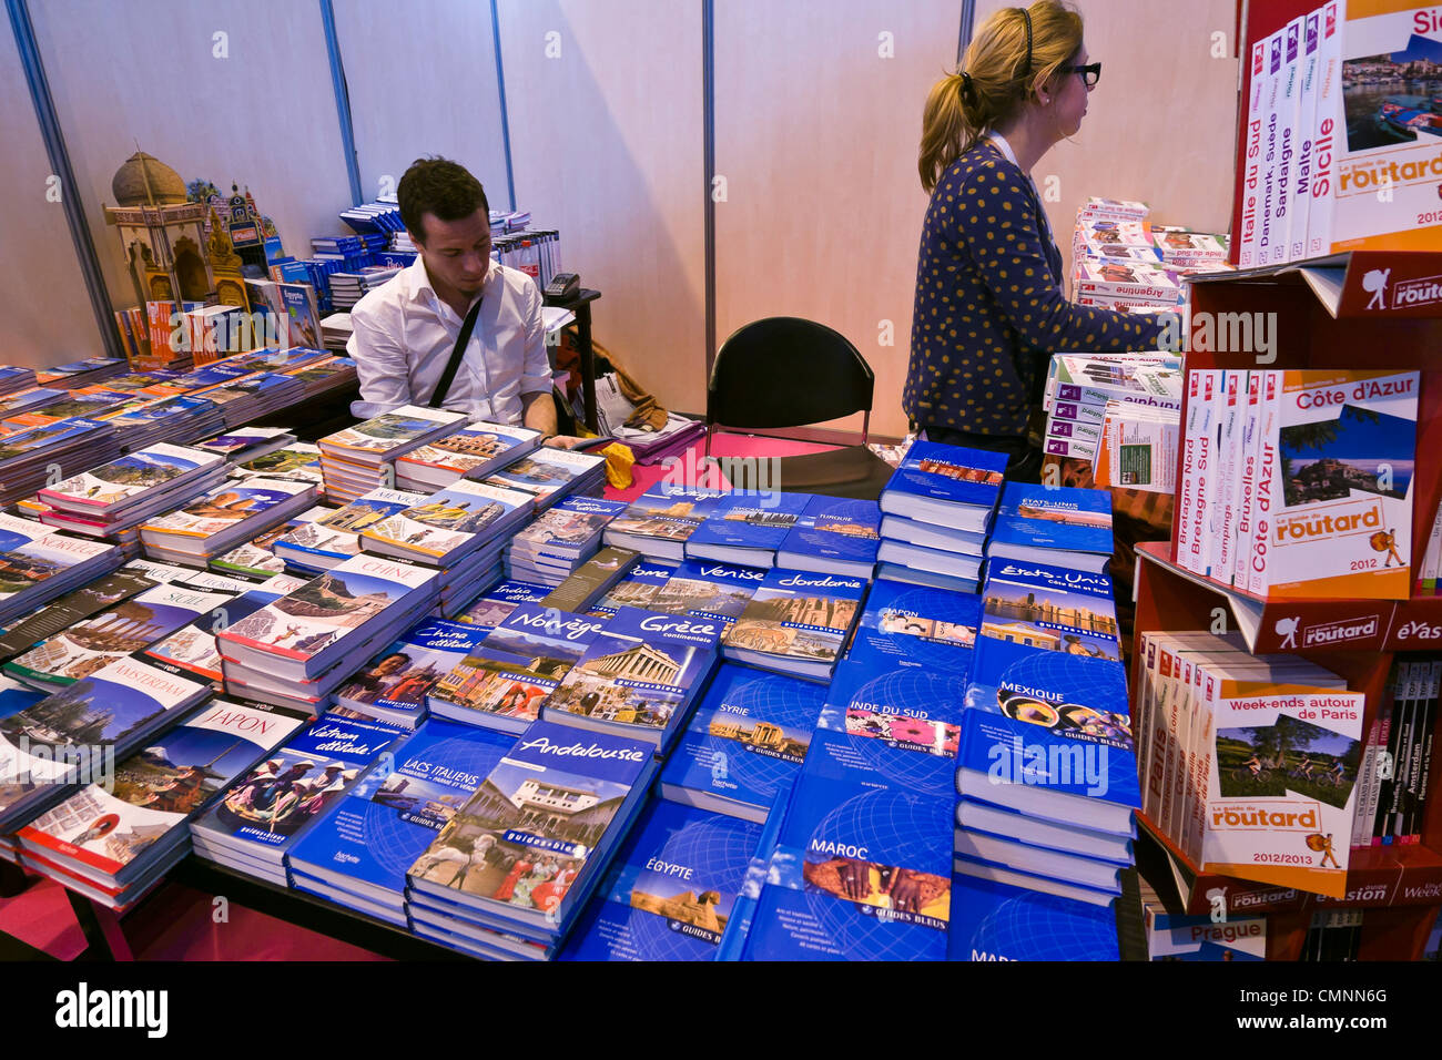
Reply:
<svg viewBox="0 0 1442 1060"><path fill-rule="evenodd" d="M721 343L707 427L803 427L867 412L875 374L839 332L793 316L756 320Z"/></svg>

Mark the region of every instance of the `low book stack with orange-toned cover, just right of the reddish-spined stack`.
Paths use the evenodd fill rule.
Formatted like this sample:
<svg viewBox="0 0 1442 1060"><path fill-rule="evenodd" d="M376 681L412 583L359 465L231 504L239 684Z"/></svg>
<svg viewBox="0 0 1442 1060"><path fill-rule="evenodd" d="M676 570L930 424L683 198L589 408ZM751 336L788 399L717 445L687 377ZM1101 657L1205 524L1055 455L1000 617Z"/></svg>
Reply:
<svg viewBox="0 0 1442 1060"><path fill-rule="evenodd" d="M151 560L205 567L257 534L265 534L310 508L320 487L255 476L229 480L169 515L140 525Z"/></svg>

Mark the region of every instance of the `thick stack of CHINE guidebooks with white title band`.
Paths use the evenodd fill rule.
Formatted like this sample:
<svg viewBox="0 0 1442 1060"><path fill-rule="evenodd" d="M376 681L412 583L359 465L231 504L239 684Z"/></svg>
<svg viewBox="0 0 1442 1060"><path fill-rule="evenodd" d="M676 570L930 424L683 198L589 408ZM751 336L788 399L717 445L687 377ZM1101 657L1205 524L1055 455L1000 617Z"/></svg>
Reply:
<svg viewBox="0 0 1442 1060"><path fill-rule="evenodd" d="M358 555L219 633L231 695L314 708L435 604L438 574Z"/></svg>

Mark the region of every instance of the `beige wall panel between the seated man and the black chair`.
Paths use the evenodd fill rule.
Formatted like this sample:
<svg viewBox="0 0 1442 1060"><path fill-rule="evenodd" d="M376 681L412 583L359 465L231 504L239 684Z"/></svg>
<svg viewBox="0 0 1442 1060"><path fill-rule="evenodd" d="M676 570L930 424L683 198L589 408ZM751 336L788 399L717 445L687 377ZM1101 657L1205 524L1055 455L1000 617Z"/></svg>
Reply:
<svg viewBox="0 0 1442 1060"><path fill-rule="evenodd" d="M701 3L502 0L516 205L603 297L596 337L705 407Z"/></svg>

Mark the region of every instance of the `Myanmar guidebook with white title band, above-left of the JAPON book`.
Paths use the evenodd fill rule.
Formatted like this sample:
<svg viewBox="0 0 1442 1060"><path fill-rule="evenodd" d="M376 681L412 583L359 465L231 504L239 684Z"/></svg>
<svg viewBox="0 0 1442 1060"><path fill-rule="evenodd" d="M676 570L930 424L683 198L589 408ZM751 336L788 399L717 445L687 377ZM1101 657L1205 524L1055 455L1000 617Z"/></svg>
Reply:
<svg viewBox="0 0 1442 1060"><path fill-rule="evenodd" d="M4 718L0 832L69 795L69 786L114 776L117 760L209 695L202 681L121 658Z"/></svg>

